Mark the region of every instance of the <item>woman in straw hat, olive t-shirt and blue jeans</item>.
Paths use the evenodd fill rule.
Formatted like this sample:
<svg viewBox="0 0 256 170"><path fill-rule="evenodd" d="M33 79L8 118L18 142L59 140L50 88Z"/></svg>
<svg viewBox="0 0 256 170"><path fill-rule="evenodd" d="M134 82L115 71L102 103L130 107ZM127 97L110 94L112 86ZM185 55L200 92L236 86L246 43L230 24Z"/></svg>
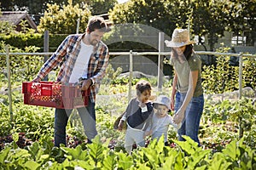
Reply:
<svg viewBox="0 0 256 170"><path fill-rule="evenodd" d="M183 140L182 136L186 135L200 145L198 131L204 106L201 57L195 54L195 42L189 40L189 31L186 29L175 29L172 41L165 42L167 47L172 48L171 65L175 75L172 82L171 109L175 111L173 122L182 122L177 131L179 140Z"/></svg>

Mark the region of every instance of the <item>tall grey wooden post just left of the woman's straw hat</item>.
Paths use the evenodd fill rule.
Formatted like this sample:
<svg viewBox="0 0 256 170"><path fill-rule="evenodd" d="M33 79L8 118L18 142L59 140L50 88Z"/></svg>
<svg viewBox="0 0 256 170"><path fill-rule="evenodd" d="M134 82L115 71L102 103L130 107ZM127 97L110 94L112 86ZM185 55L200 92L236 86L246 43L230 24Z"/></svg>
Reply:
<svg viewBox="0 0 256 170"><path fill-rule="evenodd" d="M159 32L159 52L164 51L164 32ZM164 56L161 54L158 55L158 81L157 81L157 88L158 91L162 91L163 86L163 77L164 77Z"/></svg>

